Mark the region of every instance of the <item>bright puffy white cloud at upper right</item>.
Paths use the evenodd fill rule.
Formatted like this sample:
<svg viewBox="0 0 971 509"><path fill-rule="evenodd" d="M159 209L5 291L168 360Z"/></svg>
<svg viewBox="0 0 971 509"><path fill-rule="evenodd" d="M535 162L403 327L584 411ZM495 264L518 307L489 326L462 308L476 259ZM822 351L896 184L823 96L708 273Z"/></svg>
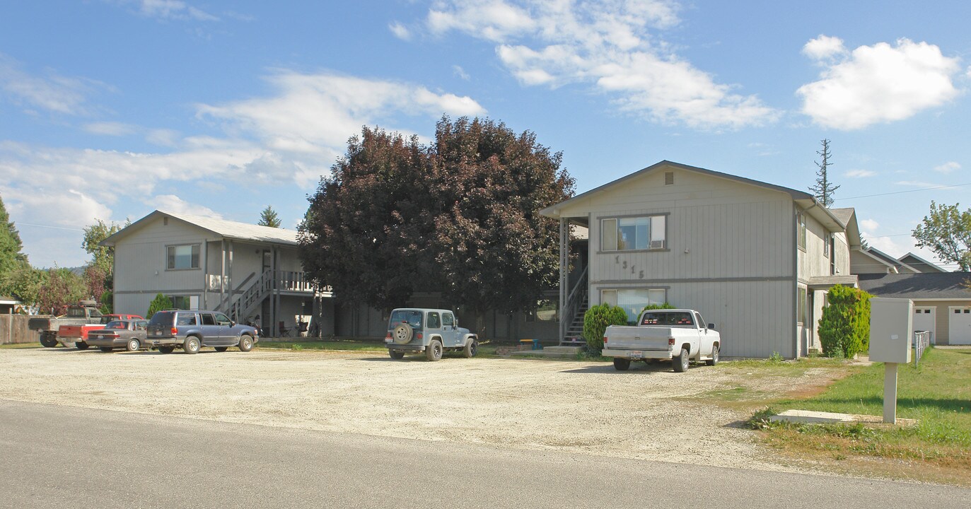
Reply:
<svg viewBox="0 0 971 509"><path fill-rule="evenodd" d="M814 54L836 56L826 53L832 43L826 44L814 46ZM802 112L825 127L850 130L907 119L958 93L952 83L958 59L924 42L900 39L894 47L861 46L825 67L820 81L796 90L803 99Z"/></svg>

